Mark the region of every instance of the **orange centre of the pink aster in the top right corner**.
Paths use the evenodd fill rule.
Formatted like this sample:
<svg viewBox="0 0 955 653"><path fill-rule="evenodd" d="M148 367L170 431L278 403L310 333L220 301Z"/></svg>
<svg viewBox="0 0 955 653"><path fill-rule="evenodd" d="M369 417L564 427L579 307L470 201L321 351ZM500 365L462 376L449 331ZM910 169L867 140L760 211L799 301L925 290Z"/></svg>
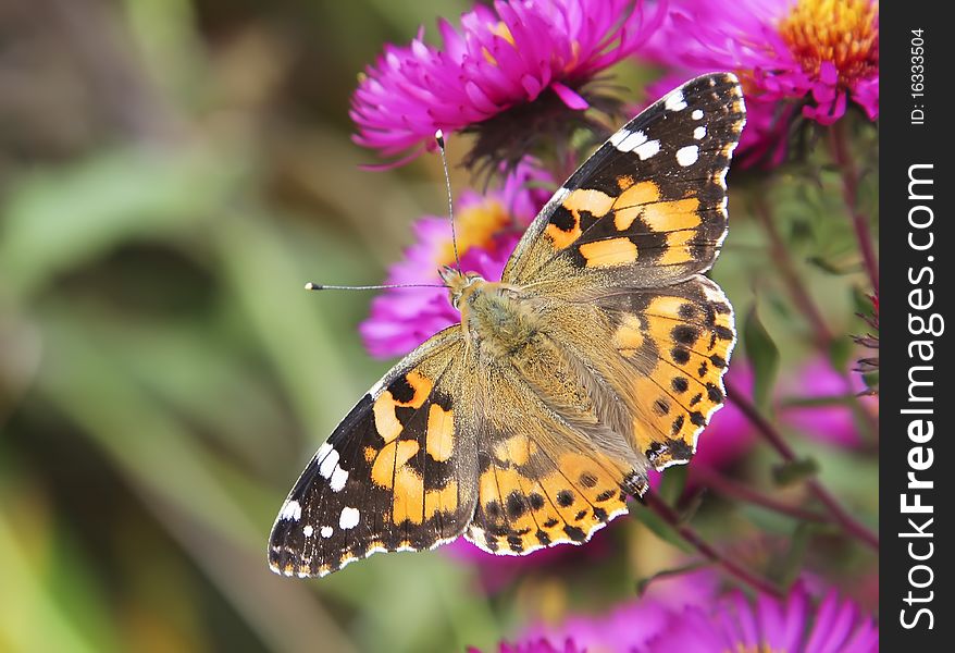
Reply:
<svg viewBox="0 0 955 653"><path fill-rule="evenodd" d="M840 84L879 67L879 3L869 0L798 0L779 25L790 51L810 74L835 64Z"/></svg>

